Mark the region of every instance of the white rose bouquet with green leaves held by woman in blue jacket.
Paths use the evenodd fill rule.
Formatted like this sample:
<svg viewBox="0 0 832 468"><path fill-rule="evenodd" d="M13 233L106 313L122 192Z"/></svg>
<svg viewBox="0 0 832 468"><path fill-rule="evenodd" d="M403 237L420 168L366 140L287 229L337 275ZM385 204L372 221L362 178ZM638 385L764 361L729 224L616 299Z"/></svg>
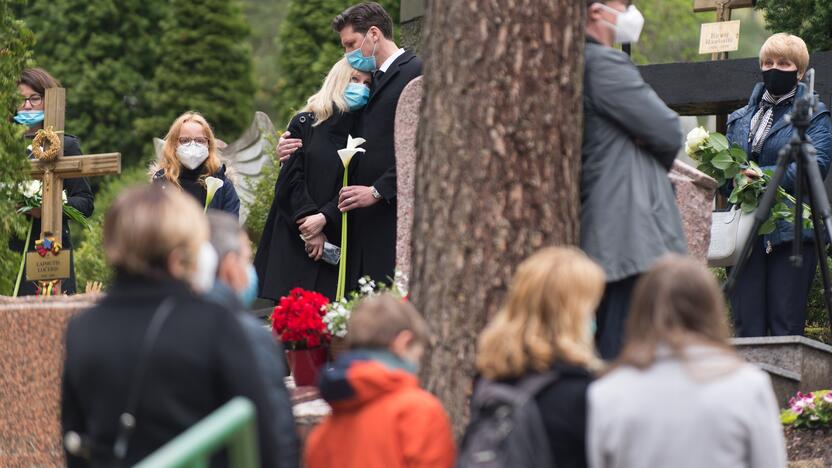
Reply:
<svg viewBox="0 0 832 468"><path fill-rule="evenodd" d="M709 132L704 127L694 128L688 133L685 152L697 162L697 169L716 179L719 185L733 179L734 189L728 202L739 206L743 212L751 213L760 203L773 172L762 170L754 161L748 160L745 150L739 145L730 144L725 135ZM758 177L749 177L746 170L755 172ZM783 187L777 187L774 206L768 220L760 227L758 234L774 231L778 220L794 222L793 206L796 200ZM803 224L811 228L811 211L803 205Z"/></svg>

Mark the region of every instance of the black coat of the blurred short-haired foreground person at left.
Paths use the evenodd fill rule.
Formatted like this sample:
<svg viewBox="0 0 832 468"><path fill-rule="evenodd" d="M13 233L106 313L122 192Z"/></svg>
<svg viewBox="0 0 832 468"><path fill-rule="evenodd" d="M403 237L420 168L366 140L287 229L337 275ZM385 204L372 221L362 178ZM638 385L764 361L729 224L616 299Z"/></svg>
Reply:
<svg viewBox="0 0 832 468"><path fill-rule="evenodd" d="M234 312L195 295L173 280L120 276L95 307L74 317L66 331L62 379L63 432L86 435L102 465L112 454L125 410L140 342L165 298L175 309L150 354L141 387L127 462L132 466L235 396L257 408L262 466L278 466L276 408L258 372L253 345ZM88 466L67 457L72 467ZM125 465L127 466L127 465Z"/></svg>

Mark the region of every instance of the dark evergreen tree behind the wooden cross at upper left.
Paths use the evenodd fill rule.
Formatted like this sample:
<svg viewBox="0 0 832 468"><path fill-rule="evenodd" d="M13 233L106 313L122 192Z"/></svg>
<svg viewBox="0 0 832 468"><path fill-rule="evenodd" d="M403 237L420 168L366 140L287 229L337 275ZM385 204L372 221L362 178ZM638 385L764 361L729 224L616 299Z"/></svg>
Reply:
<svg viewBox="0 0 832 468"><path fill-rule="evenodd" d="M138 162L146 141L133 130L158 56L165 0L31 2L26 21L36 33L36 64L67 88L67 132L87 153L121 152Z"/></svg>

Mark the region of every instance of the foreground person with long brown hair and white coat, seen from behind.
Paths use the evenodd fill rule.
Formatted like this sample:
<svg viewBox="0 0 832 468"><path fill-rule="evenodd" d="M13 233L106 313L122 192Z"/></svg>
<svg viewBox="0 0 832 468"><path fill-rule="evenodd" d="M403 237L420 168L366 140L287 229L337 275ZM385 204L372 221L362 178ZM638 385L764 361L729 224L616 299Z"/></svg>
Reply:
<svg viewBox="0 0 832 468"><path fill-rule="evenodd" d="M729 336L713 275L660 260L636 286L621 357L590 386L590 466L785 467L771 381Z"/></svg>

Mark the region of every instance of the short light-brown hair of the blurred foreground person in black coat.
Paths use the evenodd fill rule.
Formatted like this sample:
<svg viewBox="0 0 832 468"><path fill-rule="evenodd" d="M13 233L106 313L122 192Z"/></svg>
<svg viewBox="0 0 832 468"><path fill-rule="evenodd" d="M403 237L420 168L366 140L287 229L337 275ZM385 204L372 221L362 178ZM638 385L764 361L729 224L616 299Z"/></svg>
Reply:
<svg viewBox="0 0 832 468"><path fill-rule="evenodd" d="M104 217L104 254L117 271L169 277L170 254L182 252L186 271L196 268L200 246L208 239L202 208L181 190L155 185L128 189Z"/></svg>

